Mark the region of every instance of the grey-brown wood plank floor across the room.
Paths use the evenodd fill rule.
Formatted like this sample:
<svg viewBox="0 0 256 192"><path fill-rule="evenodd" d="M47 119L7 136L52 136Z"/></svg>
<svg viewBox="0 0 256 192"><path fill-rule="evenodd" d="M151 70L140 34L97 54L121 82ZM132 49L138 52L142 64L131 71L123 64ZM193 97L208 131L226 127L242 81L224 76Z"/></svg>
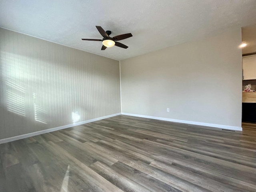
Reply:
<svg viewBox="0 0 256 192"><path fill-rule="evenodd" d="M256 130L116 116L0 145L0 192L256 192Z"/></svg>

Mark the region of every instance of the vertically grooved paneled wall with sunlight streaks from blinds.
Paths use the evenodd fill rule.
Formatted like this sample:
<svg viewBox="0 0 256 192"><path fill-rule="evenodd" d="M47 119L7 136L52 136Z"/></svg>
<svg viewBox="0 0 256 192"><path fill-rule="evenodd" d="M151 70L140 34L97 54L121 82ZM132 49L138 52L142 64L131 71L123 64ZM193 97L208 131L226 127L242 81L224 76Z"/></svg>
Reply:
<svg viewBox="0 0 256 192"><path fill-rule="evenodd" d="M0 28L0 139L120 112L119 61Z"/></svg>

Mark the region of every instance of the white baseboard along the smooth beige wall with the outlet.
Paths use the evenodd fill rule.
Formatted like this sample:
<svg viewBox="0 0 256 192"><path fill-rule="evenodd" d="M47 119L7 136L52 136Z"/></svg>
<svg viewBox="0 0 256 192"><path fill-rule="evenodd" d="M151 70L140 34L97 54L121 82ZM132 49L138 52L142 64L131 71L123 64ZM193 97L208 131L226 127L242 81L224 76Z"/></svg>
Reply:
<svg viewBox="0 0 256 192"><path fill-rule="evenodd" d="M200 125L200 126L214 127L214 128L220 128L220 129L242 131L242 127L236 127L236 126L211 124L211 123L202 123L202 122L195 122L195 121L185 121L185 120L178 120L178 119L168 119L168 118L162 118L162 117L137 115L137 114L130 114L130 113L122 113L122 115L128 115L128 116L134 116L134 117L142 117L142 118L149 118L149 119L156 119L156 120L163 120L163 121L170 121L170 122L176 122L176 123Z"/></svg>

